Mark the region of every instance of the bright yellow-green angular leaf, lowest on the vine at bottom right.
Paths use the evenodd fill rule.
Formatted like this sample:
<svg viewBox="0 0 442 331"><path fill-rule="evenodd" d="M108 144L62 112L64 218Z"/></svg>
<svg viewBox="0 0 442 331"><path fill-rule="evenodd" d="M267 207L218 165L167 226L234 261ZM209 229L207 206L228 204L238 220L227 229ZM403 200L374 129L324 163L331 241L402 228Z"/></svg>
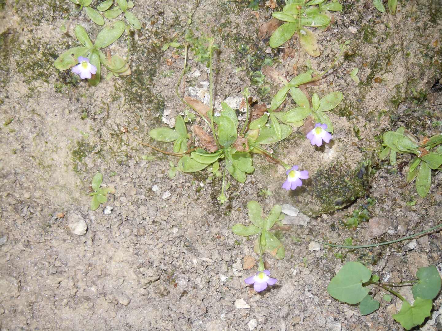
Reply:
<svg viewBox="0 0 442 331"><path fill-rule="evenodd" d="M392 318L405 330L411 330L416 325L422 324L426 317L431 316L431 308L433 308L433 301L417 297L413 305L410 305L408 301L402 301L400 312L392 315Z"/></svg>

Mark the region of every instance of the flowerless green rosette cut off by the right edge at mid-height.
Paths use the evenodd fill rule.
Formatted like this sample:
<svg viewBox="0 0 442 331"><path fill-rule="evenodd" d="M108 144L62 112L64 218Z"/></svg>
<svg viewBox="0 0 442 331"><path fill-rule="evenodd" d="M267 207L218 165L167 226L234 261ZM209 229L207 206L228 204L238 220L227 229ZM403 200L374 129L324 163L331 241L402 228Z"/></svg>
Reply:
<svg viewBox="0 0 442 331"><path fill-rule="evenodd" d="M442 171L442 134L438 133L419 142L408 130L400 127L396 132L385 132L383 139L386 147L379 154L381 160L390 154L390 162L394 165L396 153L415 154L408 163L406 181L409 184L416 180L419 196L426 197L431 186L431 170Z"/></svg>

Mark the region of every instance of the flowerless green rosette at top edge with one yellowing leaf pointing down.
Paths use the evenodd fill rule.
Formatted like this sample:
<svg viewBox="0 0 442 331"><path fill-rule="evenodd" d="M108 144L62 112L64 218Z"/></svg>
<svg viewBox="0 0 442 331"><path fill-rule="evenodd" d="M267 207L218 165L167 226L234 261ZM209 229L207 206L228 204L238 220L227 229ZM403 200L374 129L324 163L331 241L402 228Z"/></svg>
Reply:
<svg viewBox="0 0 442 331"><path fill-rule="evenodd" d="M270 37L270 47L276 48L297 34L302 48L311 56L320 56L320 50L315 35L307 28L326 27L330 24L330 11L341 11L342 6L336 1L325 3L325 0L286 0L282 11L276 11L272 16L284 21Z"/></svg>

